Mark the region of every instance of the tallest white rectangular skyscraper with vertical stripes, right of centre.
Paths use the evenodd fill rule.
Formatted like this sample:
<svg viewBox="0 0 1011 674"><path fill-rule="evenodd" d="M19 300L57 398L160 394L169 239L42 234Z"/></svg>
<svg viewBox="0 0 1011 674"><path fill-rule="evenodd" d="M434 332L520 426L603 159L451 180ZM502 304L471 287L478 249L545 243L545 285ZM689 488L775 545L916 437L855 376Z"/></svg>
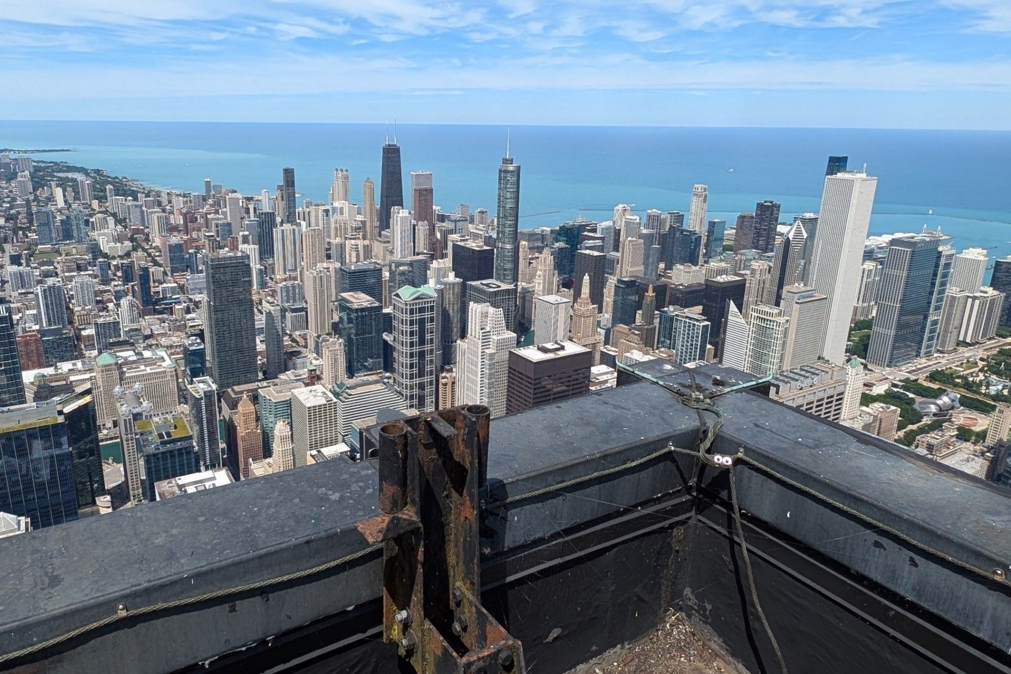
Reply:
<svg viewBox="0 0 1011 674"><path fill-rule="evenodd" d="M811 285L828 297L821 355L841 365L849 318L860 281L863 240L870 224L878 179L865 173L825 177L818 234L811 255Z"/></svg>

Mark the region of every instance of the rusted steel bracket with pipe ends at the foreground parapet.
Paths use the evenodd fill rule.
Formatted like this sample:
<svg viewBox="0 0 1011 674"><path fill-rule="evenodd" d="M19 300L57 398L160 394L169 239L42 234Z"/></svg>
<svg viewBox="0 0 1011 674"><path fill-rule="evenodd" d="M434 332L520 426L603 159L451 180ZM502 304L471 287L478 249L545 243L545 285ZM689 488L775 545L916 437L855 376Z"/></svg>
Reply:
<svg viewBox="0 0 1011 674"><path fill-rule="evenodd" d="M383 640L419 674L522 674L523 646L481 605L478 489L488 463L483 405L379 430L379 507L403 524L383 553Z"/></svg>

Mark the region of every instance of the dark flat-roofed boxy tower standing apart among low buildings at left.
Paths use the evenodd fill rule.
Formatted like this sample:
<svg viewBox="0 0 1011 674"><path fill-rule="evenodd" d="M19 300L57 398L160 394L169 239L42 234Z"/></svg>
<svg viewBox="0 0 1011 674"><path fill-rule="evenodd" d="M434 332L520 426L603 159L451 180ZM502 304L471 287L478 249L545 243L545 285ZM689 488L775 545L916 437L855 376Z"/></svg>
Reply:
<svg viewBox="0 0 1011 674"><path fill-rule="evenodd" d="M249 256L221 252L205 260L207 372L222 390L255 382L260 368L256 358L253 269Z"/></svg>

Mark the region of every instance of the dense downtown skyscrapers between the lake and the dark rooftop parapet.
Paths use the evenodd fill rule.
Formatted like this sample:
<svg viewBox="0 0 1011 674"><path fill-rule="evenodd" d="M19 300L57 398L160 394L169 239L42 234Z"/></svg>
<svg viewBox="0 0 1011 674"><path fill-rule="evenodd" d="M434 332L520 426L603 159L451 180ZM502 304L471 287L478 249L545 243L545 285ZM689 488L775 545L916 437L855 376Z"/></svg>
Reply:
<svg viewBox="0 0 1011 674"><path fill-rule="evenodd" d="M361 459L378 420L518 412L650 359L806 373L776 380L784 396L819 378L858 389L854 321L874 318L866 363L882 368L1009 324L1011 260L984 287L986 251L956 255L938 231L868 246L878 181L846 164L830 158L819 212L788 222L765 200L728 227L695 185L687 213L619 204L521 229L509 149L494 215L450 211L428 171L405 202L395 132L361 204L342 168L328 202L299 203L291 168L256 195L210 179L116 194L0 156L0 511L45 526ZM834 420L858 415L837 388Z"/></svg>

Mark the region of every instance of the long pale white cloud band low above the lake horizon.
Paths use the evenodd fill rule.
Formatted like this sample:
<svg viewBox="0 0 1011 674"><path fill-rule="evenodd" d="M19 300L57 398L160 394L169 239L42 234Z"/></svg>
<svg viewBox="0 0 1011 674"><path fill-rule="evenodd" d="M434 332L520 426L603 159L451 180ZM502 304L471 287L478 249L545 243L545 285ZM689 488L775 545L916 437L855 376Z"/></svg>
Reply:
<svg viewBox="0 0 1011 674"><path fill-rule="evenodd" d="M45 99L97 99L114 91L120 97L152 97L189 91L206 72L216 75L215 94L246 95L272 83L278 96L418 90L853 90L853 91L1011 91L1011 64L921 61L651 62L615 55L586 62L564 55L531 55L509 61L474 62L404 57L332 59L294 57L242 64L213 60L176 62L152 72L120 67L95 71L85 66L27 68L6 75L8 87ZM87 75L87 76L85 76Z"/></svg>

